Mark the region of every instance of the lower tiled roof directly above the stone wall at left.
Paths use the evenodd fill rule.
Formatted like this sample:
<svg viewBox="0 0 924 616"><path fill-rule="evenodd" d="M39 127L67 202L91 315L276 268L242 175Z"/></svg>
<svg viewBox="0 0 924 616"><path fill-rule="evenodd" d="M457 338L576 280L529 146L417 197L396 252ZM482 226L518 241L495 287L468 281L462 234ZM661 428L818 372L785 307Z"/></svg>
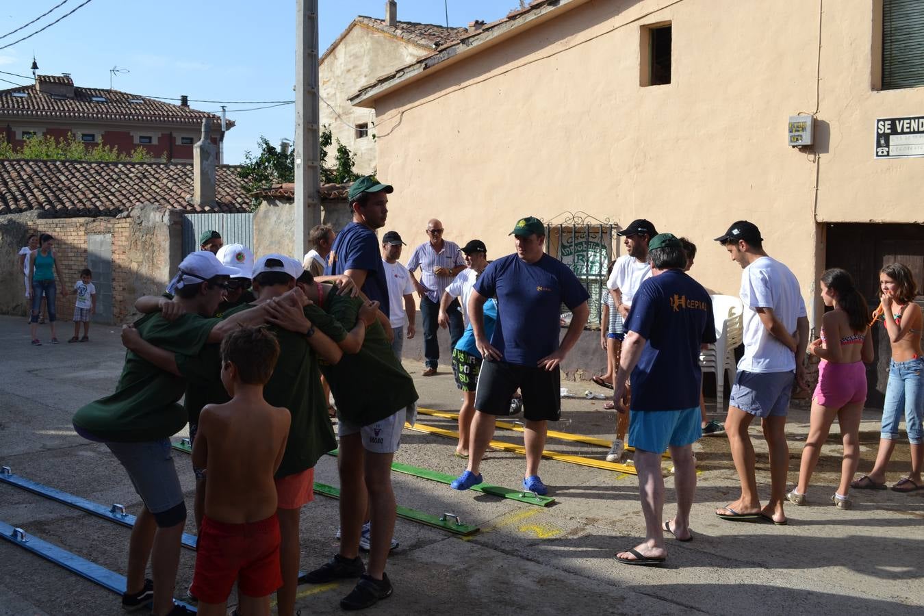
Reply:
<svg viewBox="0 0 924 616"><path fill-rule="evenodd" d="M237 166L219 165L216 204L190 205L191 163L0 160L0 214L44 211L52 218L116 216L138 203L189 212L249 211Z"/></svg>

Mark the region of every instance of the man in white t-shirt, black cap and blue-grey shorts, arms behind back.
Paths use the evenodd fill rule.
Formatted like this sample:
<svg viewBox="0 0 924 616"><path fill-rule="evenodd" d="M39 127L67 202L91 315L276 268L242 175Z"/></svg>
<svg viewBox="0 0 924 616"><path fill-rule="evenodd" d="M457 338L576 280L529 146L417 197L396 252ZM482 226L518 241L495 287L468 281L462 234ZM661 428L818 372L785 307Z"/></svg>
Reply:
<svg viewBox="0 0 924 616"><path fill-rule="evenodd" d="M786 413L794 380L805 384L806 306L793 272L764 252L757 225L737 221L715 239L744 269L740 296L745 345L725 419L741 497L715 513L725 520L764 519L785 524L783 503L789 470ZM754 447L748 435L754 417L761 419L770 450L770 501L762 508L754 476Z"/></svg>

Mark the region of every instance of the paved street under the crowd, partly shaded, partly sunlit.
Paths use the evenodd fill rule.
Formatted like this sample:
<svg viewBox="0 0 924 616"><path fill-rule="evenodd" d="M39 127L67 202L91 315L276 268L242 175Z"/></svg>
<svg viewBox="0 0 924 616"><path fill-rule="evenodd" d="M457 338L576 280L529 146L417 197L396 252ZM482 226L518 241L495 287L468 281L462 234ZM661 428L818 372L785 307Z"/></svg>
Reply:
<svg viewBox="0 0 924 616"><path fill-rule="evenodd" d="M59 338L67 340L69 322ZM49 338L47 326L41 330ZM24 318L0 317L0 464L43 484L91 501L124 503L139 511L128 476L108 450L84 441L71 429L74 410L110 393L122 366L115 327L94 325L89 344L31 347ZM407 362L419 375L421 366ZM421 406L456 410L459 396L448 365L429 379L415 376ZM565 382L569 390L602 392L590 382ZM560 430L608 438L614 413L603 401L563 401ZM868 410L861 428L863 461L869 470L879 439L879 415ZM432 426L452 428L448 419L420 416ZM808 411L790 414L790 481L796 479ZM759 429L753 430L755 438ZM177 435L177 439L181 435ZM498 439L521 441L498 430ZM734 500L736 473L723 436L697 446L699 491L692 513L693 541L667 540L667 564L630 567L614 552L638 543L643 523L636 477L546 460L541 476L553 506L541 508L440 483L395 474L399 505L426 513L454 513L480 533L460 538L443 530L399 519L401 545L388 565L395 594L371 610L376 614L919 614L924 553L924 491L857 491L853 511L835 509L829 499L840 468L835 432L822 452L809 492L810 504L787 507L789 525L725 522L716 506ZM769 473L763 443L758 450L759 482L766 496ZM605 449L550 439L549 449L603 458ZM453 456L454 442L405 430L396 461L456 475L464 465ZM191 511L192 470L188 456L176 465ZM890 482L906 471L907 445L899 444ZM669 466L669 465L668 465ZM524 460L494 452L483 465L485 480L518 488ZM335 461L325 457L316 480L338 485ZM673 513L667 481L665 513ZM317 496L302 514L302 568L313 568L336 549L337 502ZM71 550L119 574L125 573L128 529L80 513L20 489L0 484L0 521ZM194 532L190 522L187 532ZM177 597L191 580L194 554L183 550ZM336 614L352 587L302 586L302 613ZM121 614L118 597L75 574L0 542L0 614Z"/></svg>

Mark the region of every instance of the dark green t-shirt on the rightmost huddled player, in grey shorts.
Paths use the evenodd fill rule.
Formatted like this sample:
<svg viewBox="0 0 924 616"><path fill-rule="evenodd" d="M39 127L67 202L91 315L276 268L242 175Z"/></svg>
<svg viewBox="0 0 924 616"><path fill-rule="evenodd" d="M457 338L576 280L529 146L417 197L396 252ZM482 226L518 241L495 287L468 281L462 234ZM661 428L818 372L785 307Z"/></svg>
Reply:
<svg viewBox="0 0 924 616"><path fill-rule="evenodd" d="M324 298L323 309L348 332L356 326L361 306L359 297L338 296L334 290ZM317 320L320 311L310 306L305 313L316 328L331 335ZM334 394L337 414L359 426L392 416L419 397L414 380L395 357L378 321L366 328L359 353L345 353L334 366L322 362L321 369Z"/></svg>

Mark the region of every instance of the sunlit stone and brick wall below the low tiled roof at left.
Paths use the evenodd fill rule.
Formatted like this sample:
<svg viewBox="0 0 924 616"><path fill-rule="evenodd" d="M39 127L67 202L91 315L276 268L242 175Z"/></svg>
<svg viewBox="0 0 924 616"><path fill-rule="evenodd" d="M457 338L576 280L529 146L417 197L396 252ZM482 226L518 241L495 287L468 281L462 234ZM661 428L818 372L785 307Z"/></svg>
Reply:
<svg viewBox="0 0 924 616"><path fill-rule="evenodd" d="M0 265L0 283L10 290L0 296L0 314L28 314L23 276L15 256L31 233L55 237L55 254L64 278L57 284L64 284L68 291L79 280L80 270L89 267L88 236L110 236L111 280L103 283L99 277L102 272L94 272L94 280L99 283L98 312L103 311L100 302L111 302L112 317L103 319L100 315L96 320L120 323L133 313L136 297L164 292L179 261L181 230L177 212L150 204L136 206L116 218L40 218L35 212L0 217L0 250L9 256ZM105 291L111 296L104 297ZM74 297L58 295L56 308L58 320L71 319Z"/></svg>

